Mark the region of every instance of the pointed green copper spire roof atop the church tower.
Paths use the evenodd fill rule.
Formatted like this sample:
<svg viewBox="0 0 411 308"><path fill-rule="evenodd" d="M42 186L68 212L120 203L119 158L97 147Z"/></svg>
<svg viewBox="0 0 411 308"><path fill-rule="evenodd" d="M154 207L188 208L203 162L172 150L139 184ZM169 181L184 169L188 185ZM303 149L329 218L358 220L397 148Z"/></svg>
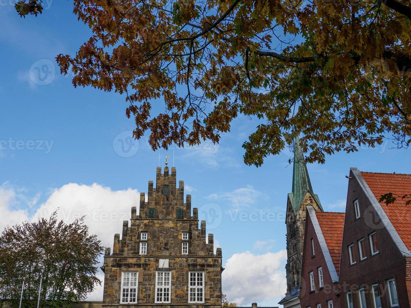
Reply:
<svg viewBox="0 0 411 308"><path fill-rule="evenodd" d="M298 209L300 209L307 191L311 193L315 202L322 210L320 200L312 190L307 165L305 164L304 155L300 147L300 139L296 137L294 139L293 192L288 194L294 213L297 213Z"/></svg>

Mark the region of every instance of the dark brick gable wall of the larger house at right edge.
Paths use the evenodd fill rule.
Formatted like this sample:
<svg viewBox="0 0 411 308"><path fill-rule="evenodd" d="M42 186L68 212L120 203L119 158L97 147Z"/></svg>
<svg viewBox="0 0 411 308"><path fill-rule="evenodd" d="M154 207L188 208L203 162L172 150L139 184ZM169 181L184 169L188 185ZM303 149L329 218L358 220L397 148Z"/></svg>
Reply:
<svg viewBox="0 0 411 308"><path fill-rule="evenodd" d="M393 237L383 225L373 207L369 195L364 191L366 184L360 183L359 172L351 168L346 202L346 219L342 242L341 268L339 275L341 307L348 307L346 292L352 292L353 307L360 307L358 290L364 288L367 307L374 307L370 286L379 285L382 307L390 307L387 280L395 278L399 307L410 307L410 260L404 257ZM387 192L391 188L386 187ZM374 197L372 195L371 197ZM358 200L360 217L356 218L354 201ZM369 235L376 232L378 253L372 255ZM358 240L364 238L364 260L360 260ZM349 245L353 245L355 264L351 265ZM407 252L408 253L408 252Z"/></svg>

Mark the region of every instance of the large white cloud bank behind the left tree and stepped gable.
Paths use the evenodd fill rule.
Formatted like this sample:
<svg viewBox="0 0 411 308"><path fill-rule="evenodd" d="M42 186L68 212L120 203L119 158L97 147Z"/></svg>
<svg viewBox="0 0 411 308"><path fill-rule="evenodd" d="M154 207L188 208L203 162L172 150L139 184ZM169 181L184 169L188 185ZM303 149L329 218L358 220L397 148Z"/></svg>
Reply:
<svg viewBox="0 0 411 308"><path fill-rule="evenodd" d="M49 217L57 210L59 219L70 223L85 216L90 234L97 234L102 245L113 247L115 233L122 231L122 222L129 220L131 208L139 204L140 195L136 189L113 191L99 184L79 185L66 184L56 188L47 201L35 207L39 195L27 198L21 189L13 188L7 183L0 186L0 230L6 225L15 225L23 221L36 220L38 217ZM137 206L137 209L139 207ZM99 270L100 280L104 280ZM103 286L89 294L89 300L102 300Z"/></svg>

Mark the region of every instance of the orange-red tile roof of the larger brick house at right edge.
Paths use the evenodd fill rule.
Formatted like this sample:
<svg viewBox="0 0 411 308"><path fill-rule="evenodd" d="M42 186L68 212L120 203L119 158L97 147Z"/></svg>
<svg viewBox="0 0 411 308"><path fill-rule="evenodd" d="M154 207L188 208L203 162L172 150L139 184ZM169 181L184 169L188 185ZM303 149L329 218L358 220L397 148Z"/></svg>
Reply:
<svg viewBox="0 0 411 308"><path fill-rule="evenodd" d="M411 193L411 175L401 173L360 173L377 200L386 193L393 193L397 197L397 200L392 204L386 205L380 202L380 205L405 246L411 249L411 205L405 204L409 199L402 200L399 197Z"/></svg>

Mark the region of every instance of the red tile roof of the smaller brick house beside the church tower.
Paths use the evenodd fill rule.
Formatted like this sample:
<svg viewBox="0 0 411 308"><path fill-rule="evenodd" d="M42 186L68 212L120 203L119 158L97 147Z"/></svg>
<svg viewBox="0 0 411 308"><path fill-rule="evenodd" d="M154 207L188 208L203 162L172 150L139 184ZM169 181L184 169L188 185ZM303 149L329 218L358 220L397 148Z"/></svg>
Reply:
<svg viewBox="0 0 411 308"><path fill-rule="evenodd" d="M326 240L328 251L330 251L335 270L339 273L345 213L316 212L315 214Z"/></svg>

